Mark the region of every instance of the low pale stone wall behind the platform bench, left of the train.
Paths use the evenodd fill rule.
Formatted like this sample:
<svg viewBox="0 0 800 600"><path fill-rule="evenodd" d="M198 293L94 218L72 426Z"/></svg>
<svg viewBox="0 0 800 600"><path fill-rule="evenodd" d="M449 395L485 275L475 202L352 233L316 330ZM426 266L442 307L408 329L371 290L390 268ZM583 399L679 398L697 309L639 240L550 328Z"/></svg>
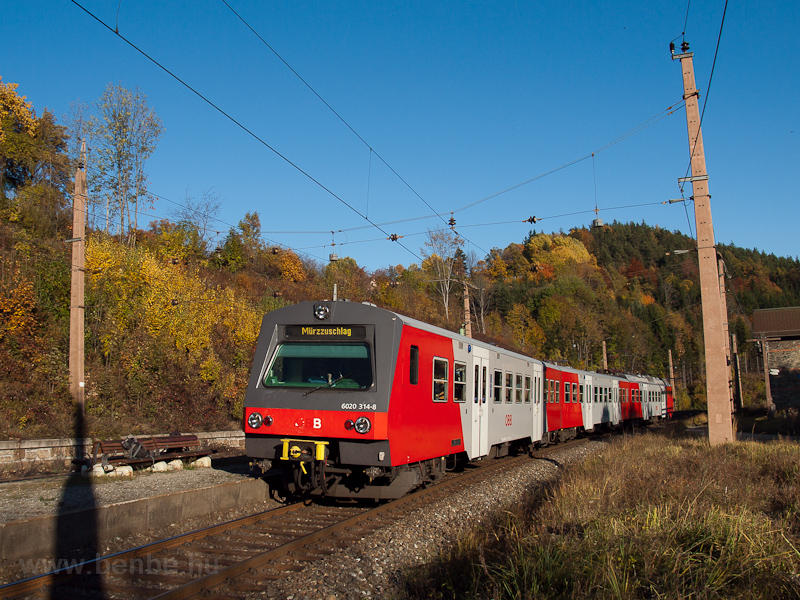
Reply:
<svg viewBox="0 0 800 600"><path fill-rule="evenodd" d="M244 450L241 431L203 431L194 435L204 448ZM0 440L0 469L29 471L37 466L64 467L76 456L89 456L93 444L92 438L82 441L74 438Z"/></svg>

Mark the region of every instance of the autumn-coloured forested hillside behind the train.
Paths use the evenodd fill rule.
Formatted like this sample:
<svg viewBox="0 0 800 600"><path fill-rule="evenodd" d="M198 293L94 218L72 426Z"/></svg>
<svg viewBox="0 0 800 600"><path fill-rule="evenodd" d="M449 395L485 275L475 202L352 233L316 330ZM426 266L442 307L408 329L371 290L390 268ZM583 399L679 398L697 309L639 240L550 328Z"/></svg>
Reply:
<svg viewBox="0 0 800 600"><path fill-rule="evenodd" d="M115 91L136 101L123 92ZM74 123L37 117L2 81L0 119L0 438L68 435ZM102 135L94 127L86 131ZM680 402L705 401L697 257L674 252L694 246L683 234L615 222L531 232L479 257L445 229L429 233L421 264L368 273L350 258L319 264L265 245L257 212L212 245L213 197L187 198L173 219L144 226L142 161L124 167L139 194L127 204L112 193L119 182L90 179L90 195L116 219L108 229L90 217L86 236L91 436L238 427L262 315L331 298L334 285L340 298L451 330L464 324L466 286L473 336L580 368L602 368L605 342L609 369L666 376L671 350ZM734 246L720 253L730 328L751 374L745 400L763 403L748 318L755 308L800 305L800 263Z"/></svg>

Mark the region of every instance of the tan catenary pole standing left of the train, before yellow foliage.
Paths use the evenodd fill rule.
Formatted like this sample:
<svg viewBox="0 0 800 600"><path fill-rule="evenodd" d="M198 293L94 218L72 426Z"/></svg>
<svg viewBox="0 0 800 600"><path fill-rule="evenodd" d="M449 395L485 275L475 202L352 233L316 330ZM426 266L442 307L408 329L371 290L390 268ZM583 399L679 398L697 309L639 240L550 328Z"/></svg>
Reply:
<svg viewBox="0 0 800 600"><path fill-rule="evenodd" d="M86 261L86 141L81 143L81 158L75 172L75 194L72 197L72 288L69 303L69 389L78 403L78 411L86 414L84 402L84 273Z"/></svg>

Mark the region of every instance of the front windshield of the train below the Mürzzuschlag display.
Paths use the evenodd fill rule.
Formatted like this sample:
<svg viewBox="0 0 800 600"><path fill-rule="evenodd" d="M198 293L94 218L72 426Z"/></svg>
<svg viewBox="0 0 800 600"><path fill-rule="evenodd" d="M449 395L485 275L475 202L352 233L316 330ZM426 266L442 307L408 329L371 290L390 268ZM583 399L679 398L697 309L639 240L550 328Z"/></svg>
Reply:
<svg viewBox="0 0 800 600"><path fill-rule="evenodd" d="M264 376L267 387L365 390L372 386L367 344L285 343Z"/></svg>

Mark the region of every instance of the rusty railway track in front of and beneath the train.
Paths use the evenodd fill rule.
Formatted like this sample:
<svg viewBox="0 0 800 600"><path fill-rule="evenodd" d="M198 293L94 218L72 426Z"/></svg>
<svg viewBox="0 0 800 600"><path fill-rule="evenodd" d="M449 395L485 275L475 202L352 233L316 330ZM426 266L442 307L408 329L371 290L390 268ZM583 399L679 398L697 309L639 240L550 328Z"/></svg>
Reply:
<svg viewBox="0 0 800 600"><path fill-rule="evenodd" d="M583 442L548 447L536 455L545 458ZM287 505L4 585L0 598L244 598L412 511L528 460L492 461L375 508Z"/></svg>

